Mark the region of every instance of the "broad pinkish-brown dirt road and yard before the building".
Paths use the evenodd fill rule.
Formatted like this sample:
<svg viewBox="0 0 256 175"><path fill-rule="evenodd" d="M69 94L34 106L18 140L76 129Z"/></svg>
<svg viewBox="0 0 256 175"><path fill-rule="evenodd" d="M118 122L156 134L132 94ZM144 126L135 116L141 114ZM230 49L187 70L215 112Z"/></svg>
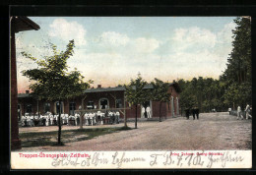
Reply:
<svg viewBox="0 0 256 175"><path fill-rule="evenodd" d="M112 125L121 127L123 124ZM134 128L134 123L128 123ZM88 126L89 127L89 126ZM92 126L91 126L92 127ZM98 127L98 126L94 126ZM101 126L109 127L109 126ZM79 127L63 127L63 130ZM53 131L56 127L21 128L20 132ZM24 147L22 150L193 150L251 149L251 120L225 113L200 114L199 120L172 118L139 122L138 129L121 131L65 146Z"/></svg>

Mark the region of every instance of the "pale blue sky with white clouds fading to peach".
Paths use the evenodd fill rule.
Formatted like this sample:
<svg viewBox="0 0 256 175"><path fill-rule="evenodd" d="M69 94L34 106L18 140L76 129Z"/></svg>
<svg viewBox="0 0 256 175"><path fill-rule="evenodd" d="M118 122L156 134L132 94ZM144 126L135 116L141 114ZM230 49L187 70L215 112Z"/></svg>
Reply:
<svg viewBox="0 0 256 175"><path fill-rule="evenodd" d="M164 82L219 79L232 49L235 17L29 17L39 30L16 34L18 92L29 89L21 71L36 64L22 56L50 55L49 42L65 50L75 40L70 71L77 68L93 87L116 87L136 79Z"/></svg>

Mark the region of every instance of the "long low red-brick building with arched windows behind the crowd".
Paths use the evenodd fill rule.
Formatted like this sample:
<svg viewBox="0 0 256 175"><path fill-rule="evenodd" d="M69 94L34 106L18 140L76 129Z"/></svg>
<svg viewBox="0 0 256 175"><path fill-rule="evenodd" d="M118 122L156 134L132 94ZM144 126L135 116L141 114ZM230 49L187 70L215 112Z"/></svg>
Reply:
<svg viewBox="0 0 256 175"><path fill-rule="evenodd" d="M145 88L153 88L153 86L148 85ZM129 105L125 100L124 92L125 87L101 87L98 85L96 88L86 89L84 94L79 97L65 99L59 104L58 101L37 100L29 90L26 90L26 93L18 94L18 116L20 120L25 113L30 115L34 115L37 112L39 114L45 114L46 112L57 114L59 110L63 114L74 115L76 110L82 108L86 110L85 112L96 112L97 110L119 111L121 118L124 118L124 116L135 118L135 105ZM161 116L178 116L180 114L180 87L176 82L170 83L168 92L171 93L170 102L162 102ZM139 118L159 117L160 101L146 101L144 104L139 105L137 109Z"/></svg>

